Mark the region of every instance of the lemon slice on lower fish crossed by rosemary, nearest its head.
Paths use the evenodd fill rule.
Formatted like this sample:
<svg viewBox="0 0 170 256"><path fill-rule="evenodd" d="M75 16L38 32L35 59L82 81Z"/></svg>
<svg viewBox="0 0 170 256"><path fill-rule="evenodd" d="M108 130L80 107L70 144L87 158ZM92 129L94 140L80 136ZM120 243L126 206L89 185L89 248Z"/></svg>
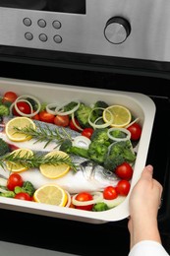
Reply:
<svg viewBox="0 0 170 256"><path fill-rule="evenodd" d="M46 155L46 157L52 156L69 157L65 152L62 151L52 151ZM56 165L42 163L40 164L39 169L41 174L45 177L55 179L64 176L70 170L70 165L66 163Z"/></svg>

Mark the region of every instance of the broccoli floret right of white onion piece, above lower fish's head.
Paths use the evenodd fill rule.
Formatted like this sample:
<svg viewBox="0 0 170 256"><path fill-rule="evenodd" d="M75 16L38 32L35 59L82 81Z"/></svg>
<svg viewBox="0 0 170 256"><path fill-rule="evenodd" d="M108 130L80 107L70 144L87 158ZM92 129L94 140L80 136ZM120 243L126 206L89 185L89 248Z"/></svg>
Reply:
<svg viewBox="0 0 170 256"><path fill-rule="evenodd" d="M102 164L107 156L108 147L103 143L92 141L87 149L88 158Z"/></svg>

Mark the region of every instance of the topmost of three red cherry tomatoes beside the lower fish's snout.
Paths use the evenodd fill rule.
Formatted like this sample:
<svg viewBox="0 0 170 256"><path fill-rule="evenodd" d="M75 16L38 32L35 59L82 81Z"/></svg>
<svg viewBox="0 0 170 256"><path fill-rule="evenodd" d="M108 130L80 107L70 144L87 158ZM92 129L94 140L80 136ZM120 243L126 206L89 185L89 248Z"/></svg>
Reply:
<svg viewBox="0 0 170 256"><path fill-rule="evenodd" d="M130 180L133 176L133 168L128 162L123 162L122 164L118 165L115 169L116 175L121 179Z"/></svg>

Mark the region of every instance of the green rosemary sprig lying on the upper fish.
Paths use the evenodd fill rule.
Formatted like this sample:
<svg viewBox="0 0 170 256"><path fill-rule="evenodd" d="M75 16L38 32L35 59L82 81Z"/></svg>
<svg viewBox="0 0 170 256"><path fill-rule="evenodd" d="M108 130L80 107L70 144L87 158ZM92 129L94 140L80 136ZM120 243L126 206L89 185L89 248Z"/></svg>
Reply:
<svg viewBox="0 0 170 256"><path fill-rule="evenodd" d="M61 128L61 131L53 129L50 130L49 126L46 125L45 128L41 127L40 124L37 124L37 129L33 129L32 127L26 126L24 128L16 127L14 126L13 129L18 133L26 134L27 136L30 136L35 140L34 143L37 142L46 142L44 145L44 148L47 147L47 145L53 141L56 142L56 147L60 146L66 139L72 140L72 137L70 134L67 133L65 129Z"/></svg>

